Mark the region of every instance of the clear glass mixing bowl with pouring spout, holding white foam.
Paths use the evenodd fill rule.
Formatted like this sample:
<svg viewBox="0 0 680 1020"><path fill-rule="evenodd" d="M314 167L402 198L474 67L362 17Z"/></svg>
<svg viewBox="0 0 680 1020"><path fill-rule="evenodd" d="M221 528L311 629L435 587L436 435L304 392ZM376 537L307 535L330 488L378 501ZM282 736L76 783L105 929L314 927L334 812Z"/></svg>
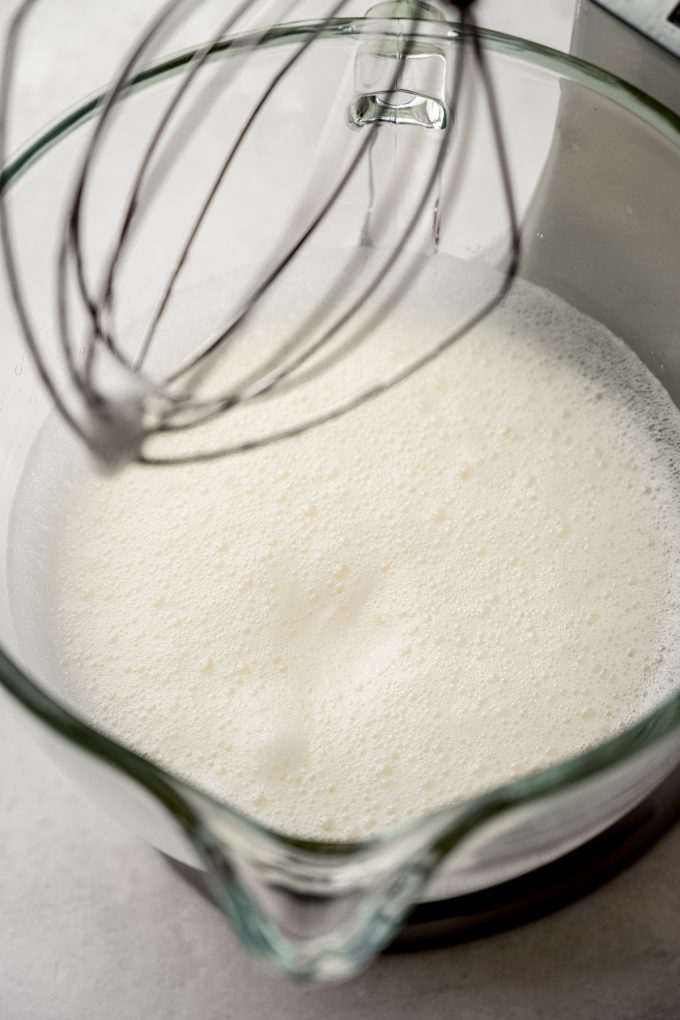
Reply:
<svg viewBox="0 0 680 1020"><path fill-rule="evenodd" d="M394 38L398 31L403 26L352 19L323 29L289 26L265 40L240 37L220 45L202 71L206 93L191 146L177 172L162 181L178 210L187 195L202 187L204 165L222 151L223 133L241 121L252 82L271 75L292 47L319 33L267 107L254 133L248 172L238 182L246 213L251 216L257 206L261 219L249 221L248 232L224 231L218 252L209 245L199 250L189 267L190 285L206 272L228 272L257 256L271 222L304 187L298 168L311 159L344 69L361 47ZM423 23L418 32L444 60L467 45L455 26L443 22ZM591 65L507 36L484 33L483 39L524 224L521 274L609 325L678 402L680 122ZM106 244L121 183L130 180L134 159L173 75L191 56L182 53L145 70L127 91L121 104L123 134L113 133L109 158L99 170L104 188L97 207L89 210L93 248ZM246 60L227 98L220 75L233 61ZM19 266L31 280L31 313L48 345L54 252L44 239L53 237L95 106L96 100L84 103L44 133L2 177ZM186 125L191 123L188 116ZM273 151L268 146L281 131L274 176L268 172ZM483 145L473 146L461 183L467 200L454 225L441 227L441 251L459 258L498 257L496 191L489 185L484 201L474 191L480 181L488 183L487 155ZM339 213L312 244L356 245L365 192L365 182L351 189ZM110 202L102 201L102 194L109 194ZM238 205L225 205L223 223L245 214ZM152 218L152 227L142 232L138 253L145 271L126 276L128 315L145 307L155 267L173 240L172 221ZM14 493L50 407L2 287L0 498L6 564ZM0 680L29 729L108 812L165 854L206 872L244 945L296 979L336 980L356 973L394 936L414 903L482 889L555 860L633 808L680 762L679 688L616 738L502 788L367 842L303 842L262 827L85 722L49 676L36 675L31 649L17 639L14 612L5 570Z"/></svg>

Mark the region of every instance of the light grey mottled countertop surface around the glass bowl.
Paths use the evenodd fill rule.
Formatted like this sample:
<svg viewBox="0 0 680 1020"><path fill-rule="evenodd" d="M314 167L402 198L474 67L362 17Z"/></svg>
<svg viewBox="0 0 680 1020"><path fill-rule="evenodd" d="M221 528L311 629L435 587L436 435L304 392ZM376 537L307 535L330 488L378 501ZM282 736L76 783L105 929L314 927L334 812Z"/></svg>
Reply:
<svg viewBox="0 0 680 1020"><path fill-rule="evenodd" d="M149 0L43 6L22 65L17 144L106 81L153 8ZM312 15L322 6L301 4ZM482 0L481 13L493 28L566 48L573 6ZM2 27L12 7L0 0ZM597 892L532 925L384 958L341 987L292 988L264 977L208 904L84 801L0 702L1 1020L679 1016L679 828Z"/></svg>

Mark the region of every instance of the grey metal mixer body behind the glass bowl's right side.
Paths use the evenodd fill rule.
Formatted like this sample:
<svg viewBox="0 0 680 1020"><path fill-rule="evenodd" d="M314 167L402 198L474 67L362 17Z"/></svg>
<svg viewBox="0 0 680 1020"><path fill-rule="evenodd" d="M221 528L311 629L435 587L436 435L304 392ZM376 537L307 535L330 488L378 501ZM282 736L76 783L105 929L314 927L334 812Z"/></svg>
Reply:
<svg viewBox="0 0 680 1020"><path fill-rule="evenodd" d="M572 52L680 113L680 12L671 0L580 0ZM524 231L523 275L605 322L677 403L679 191L676 167L633 139L625 118L608 118L603 131L592 97L563 84L552 150ZM653 260L622 257L622 246L637 247L635 238L648 252L650 235Z"/></svg>

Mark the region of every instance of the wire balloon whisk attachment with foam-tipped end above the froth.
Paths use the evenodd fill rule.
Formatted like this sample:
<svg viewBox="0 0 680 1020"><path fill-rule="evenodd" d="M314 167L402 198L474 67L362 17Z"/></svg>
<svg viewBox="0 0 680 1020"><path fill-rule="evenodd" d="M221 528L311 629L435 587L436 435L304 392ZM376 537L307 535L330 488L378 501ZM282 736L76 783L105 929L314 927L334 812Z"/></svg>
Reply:
<svg viewBox="0 0 680 1020"><path fill-rule="evenodd" d="M24 0L20 4L5 44L0 80L3 166L17 55L27 17L38 2ZM304 32L291 33L292 45L285 47L284 58L266 79L258 80L243 120L230 136L227 133L205 183L205 192L198 196L187 219L159 293L150 302L151 313L134 339L128 333L123 337L117 318L124 300L129 252L149 209L162 199L165 174L171 172L177 153L181 154L176 138L186 141L195 121L200 123L200 108L192 107L192 101L206 70L218 57L233 57L220 61L219 93L233 89L239 74L248 72L244 54L273 43L286 31L271 23L273 8L280 20L294 11L296 4L243 0L214 27L206 43L167 62L166 69L175 73L171 94L145 138L120 205L119 221L107 239L110 243L103 256L92 260L86 243L88 201L93 201L95 168L105 151L107 137L115 131L122 101L149 73L144 61L168 28L197 6L188 0L170 0L162 6L97 104L92 134L70 186L58 239L53 323L56 343L49 351L33 321L31 295L18 266L6 180L0 192L0 241L10 294L29 352L61 417L101 461L113 465L216 459L293 438L331 421L404 381L481 321L507 294L519 262L520 231L503 128L482 34L473 17L473 3L380 3L369 11L369 20L361 22L360 32L358 22L346 22L347 32L358 36L357 48L353 65L337 85L335 99L326 113L327 137L319 141L311 168L305 167L305 188L287 210L279 235L251 273L237 306L217 328L206 332L197 327L196 336L192 333L190 337L189 351L182 351L181 356L169 359L170 363L167 357L159 357L175 291L201 238L210 231L219 232L217 209L232 177L238 199L236 171L252 145L255 129L266 116L277 90L284 88L292 75L304 72L305 60L308 53L314 52L315 44L343 24L344 3L339 2L330 5L327 18L306 26ZM443 21L449 13L457 15L456 24ZM243 28L250 28L247 36L233 35ZM324 372L351 356L385 309L407 293L426 256L437 248L442 220L456 207L456 174L449 174L448 167L456 160L460 164L465 161L467 131L462 111L465 103L470 103L466 83L473 73L490 124L505 210L502 226L509 238L498 286L438 342L417 351L378 379L358 378L353 392L331 406L307 416L293 416L265 434L229 440L220 431L215 441L203 426L259 401L284 399L296 389L317 385ZM404 151L401 160L396 160L399 147ZM270 172L276 173L275 165ZM243 342L253 317L275 297L278 282L297 264L328 220L339 215L361 175L366 175L368 188L360 243L344 260L342 271L324 283L322 293L301 321L263 347L246 367L228 371L233 361L239 365L233 350ZM168 210L168 215L172 211ZM184 432L186 442L182 440L177 452L172 438Z"/></svg>

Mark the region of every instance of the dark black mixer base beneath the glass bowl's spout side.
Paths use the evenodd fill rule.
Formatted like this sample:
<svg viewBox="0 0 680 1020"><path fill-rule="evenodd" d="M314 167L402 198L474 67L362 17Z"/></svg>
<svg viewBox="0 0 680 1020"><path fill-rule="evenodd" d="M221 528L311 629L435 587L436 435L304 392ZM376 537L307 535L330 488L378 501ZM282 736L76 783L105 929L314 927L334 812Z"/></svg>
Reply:
<svg viewBox="0 0 680 1020"><path fill-rule="evenodd" d="M466 896L419 904L387 953L467 941L526 924L566 906L632 864L680 817L680 769L610 828L564 857ZM164 855L163 855L164 856ZM167 864L211 900L203 872Z"/></svg>

